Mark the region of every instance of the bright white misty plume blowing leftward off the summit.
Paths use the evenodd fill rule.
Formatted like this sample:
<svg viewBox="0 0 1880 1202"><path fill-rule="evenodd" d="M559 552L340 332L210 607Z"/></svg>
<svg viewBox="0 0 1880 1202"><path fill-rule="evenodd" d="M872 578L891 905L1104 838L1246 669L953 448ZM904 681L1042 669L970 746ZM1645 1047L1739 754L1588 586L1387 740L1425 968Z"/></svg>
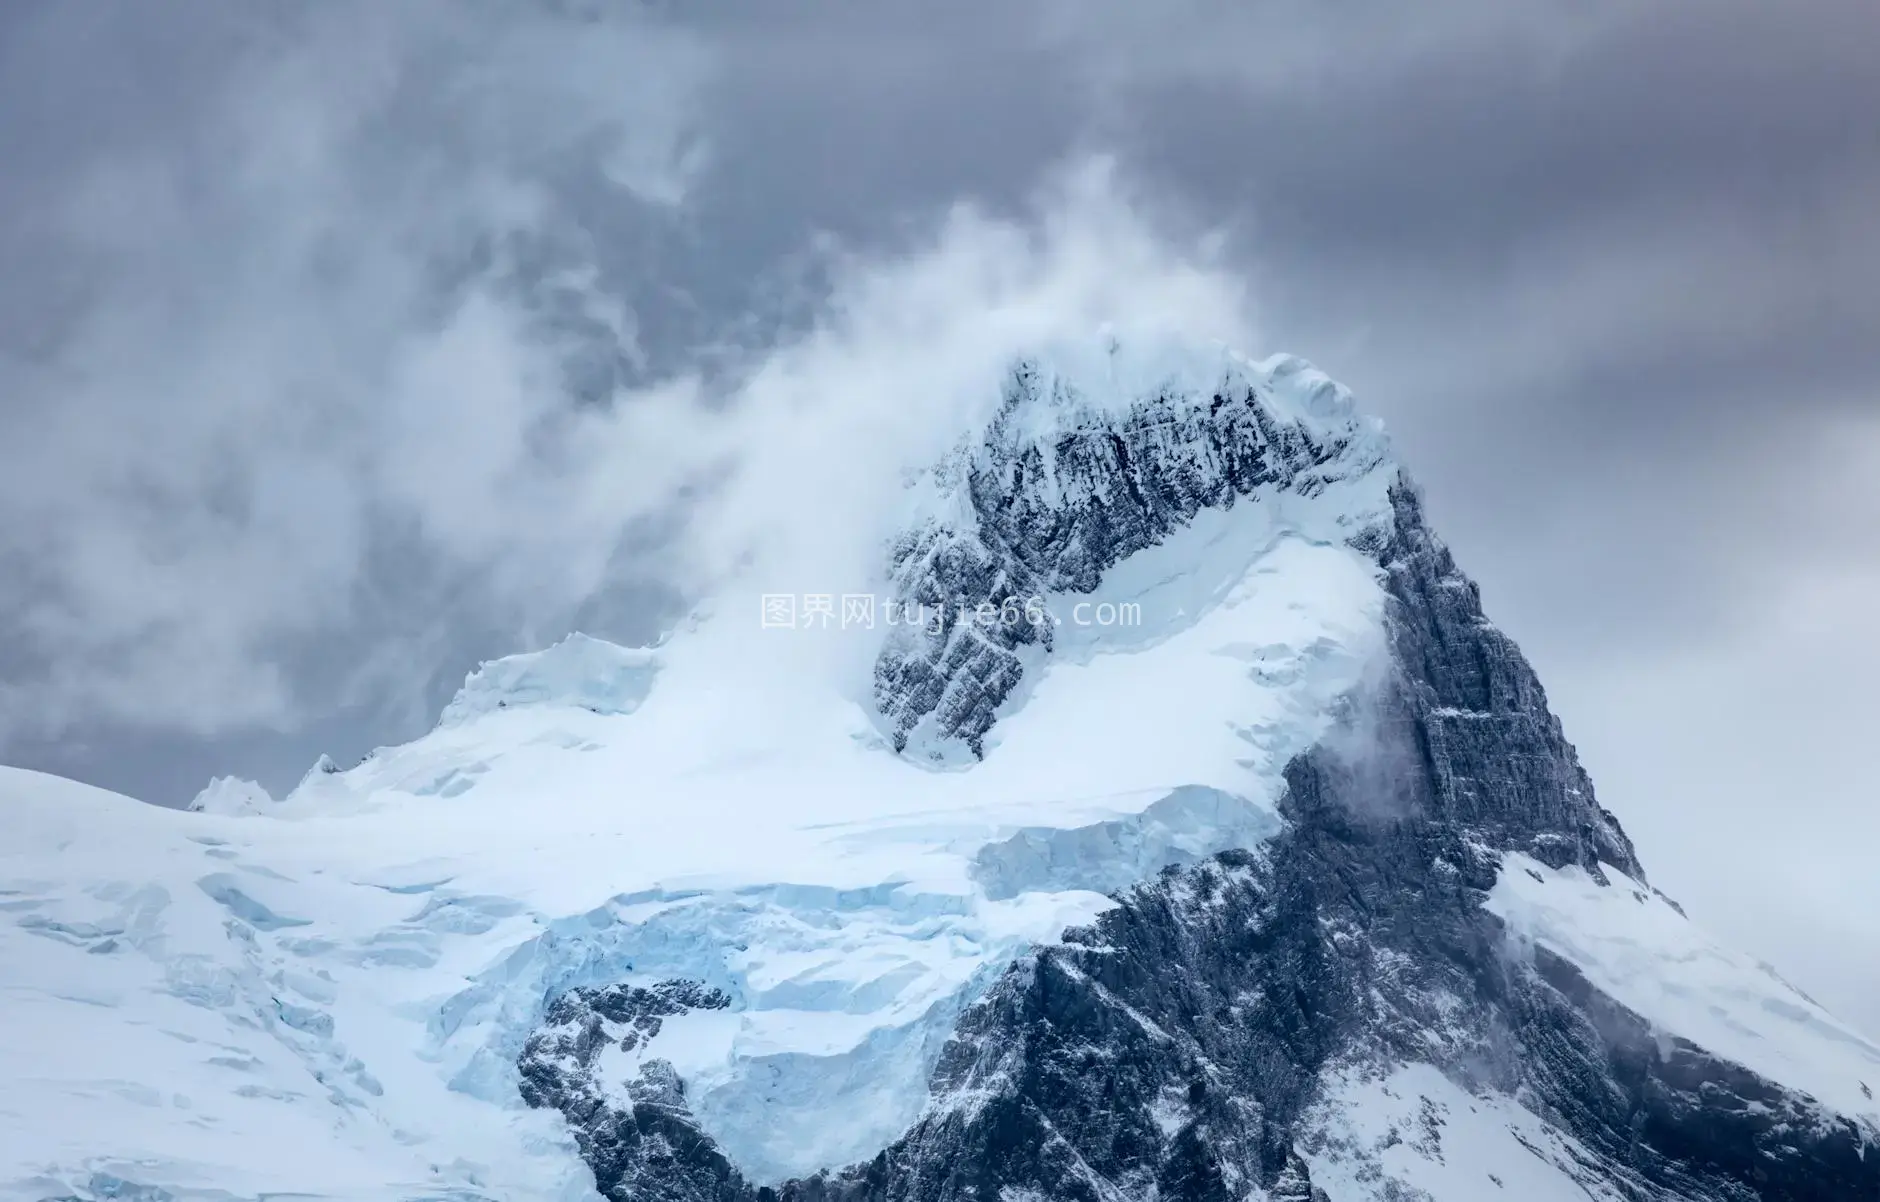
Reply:
<svg viewBox="0 0 1880 1202"><path fill-rule="evenodd" d="M737 468L688 530L697 577L739 562L780 591L878 589L908 476L985 425L1021 354L1105 325L1137 346L1248 344L1245 284L1214 250L1166 237L1092 160L1025 218L961 205L912 254L840 258L820 320L731 399Z"/></svg>

